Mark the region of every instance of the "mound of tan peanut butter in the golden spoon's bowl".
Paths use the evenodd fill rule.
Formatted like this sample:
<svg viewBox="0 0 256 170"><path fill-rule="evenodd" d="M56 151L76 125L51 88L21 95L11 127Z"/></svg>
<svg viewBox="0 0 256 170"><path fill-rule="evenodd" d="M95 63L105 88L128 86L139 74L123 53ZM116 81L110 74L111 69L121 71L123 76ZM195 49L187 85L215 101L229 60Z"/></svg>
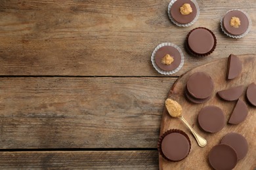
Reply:
<svg viewBox="0 0 256 170"><path fill-rule="evenodd" d="M181 117L182 107L179 103L177 103L177 101L174 101L172 99L166 99L165 107L168 110L169 114L171 114L171 116L173 116L174 118Z"/></svg>

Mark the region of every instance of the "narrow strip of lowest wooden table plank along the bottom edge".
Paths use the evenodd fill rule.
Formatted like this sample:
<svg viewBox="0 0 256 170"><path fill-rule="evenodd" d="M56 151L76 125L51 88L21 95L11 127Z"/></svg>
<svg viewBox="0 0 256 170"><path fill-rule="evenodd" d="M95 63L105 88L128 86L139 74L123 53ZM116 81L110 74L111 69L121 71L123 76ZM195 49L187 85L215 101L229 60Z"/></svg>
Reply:
<svg viewBox="0 0 256 170"><path fill-rule="evenodd" d="M158 151L0 152L1 169L158 169Z"/></svg>

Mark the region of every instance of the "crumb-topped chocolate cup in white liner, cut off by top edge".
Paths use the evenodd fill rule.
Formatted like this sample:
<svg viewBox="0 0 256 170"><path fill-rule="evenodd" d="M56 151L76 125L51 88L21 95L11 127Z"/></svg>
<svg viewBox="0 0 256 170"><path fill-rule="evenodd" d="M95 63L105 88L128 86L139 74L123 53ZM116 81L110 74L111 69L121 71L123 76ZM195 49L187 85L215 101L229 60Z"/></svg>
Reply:
<svg viewBox="0 0 256 170"><path fill-rule="evenodd" d="M194 0L172 0L168 6L170 20L182 27L192 25L198 20L200 10Z"/></svg>

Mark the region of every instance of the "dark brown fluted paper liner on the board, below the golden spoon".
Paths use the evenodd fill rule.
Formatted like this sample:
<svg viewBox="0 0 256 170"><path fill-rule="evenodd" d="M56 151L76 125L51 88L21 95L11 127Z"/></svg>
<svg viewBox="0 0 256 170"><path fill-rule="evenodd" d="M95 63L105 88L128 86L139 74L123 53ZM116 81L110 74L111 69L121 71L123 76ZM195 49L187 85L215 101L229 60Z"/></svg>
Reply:
<svg viewBox="0 0 256 170"><path fill-rule="evenodd" d="M190 149L191 149L191 142L190 142L190 139L188 137L188 135L186 135L186 133L180 129L169 129L167 131L165 131L165 133L163 133L163 135L160 136L160 138L158 139L158 152L160 152L161 156L163 158L165 158L165 160L168 160L168 161L173 161L173 160L169 160L164 154L163 154L163 151L161 150L161 142L163 141L163 138L167 135L169 135L170 133L181 133L181 135L184 135L184 137L186 137L186 139L188 140L188 143L189 143L189 151L188 151L188 154L190 153ZM188 156L188 154L184 157L186 158ZM184 158L182 160L184 160Z"/></svg>

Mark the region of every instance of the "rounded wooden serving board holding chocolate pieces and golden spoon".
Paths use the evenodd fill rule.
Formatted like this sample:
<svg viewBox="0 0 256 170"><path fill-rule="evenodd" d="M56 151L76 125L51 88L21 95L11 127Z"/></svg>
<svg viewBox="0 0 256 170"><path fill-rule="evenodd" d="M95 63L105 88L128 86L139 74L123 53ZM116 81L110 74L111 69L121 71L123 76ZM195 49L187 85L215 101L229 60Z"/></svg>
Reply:
<svg viewBox="0 0 256 170"><path fill-rule="evenodd" d="M188 128L179 120L179 118L171 118L167 113L166 108L163 109L163 118L161 121L160 136L168 129L181 129L186 132L190 137L191 150L188 157L182 161L170 162L164 160L161 155L159 156L160 169L212 169L209 165L208 154L211 148L216 144L219 144L221 139L229 132L237 132L247 139L249 144L249 151L244 159L238 161L235 169L255 169L256 168L256 107L252 107L248 104L245 97L245 91L247 86L251 82L256 83L256 56L255 55L244 55L238 56L242 61L242 73L233 80L226 80L226 70L228 65L228 58L219 59L196 67L180 76L180 78L173 84L168 98L174 99L182 106L182 115L188 121L188 123L207 140L207 145L203 148L198 146L196 139ZM184 90L188 77L193 73L202 71L207 73L213 78L214 92L209 101L202 104L190 103L184 96ZM244 85L244 93L241 98L247 103L249 110L247 118L244 122L238 125L226 124L224 128L217 133L207 133L203 131L198 125L198 112L207 105L215 105L223 109L226 122L230 117L236 101L223 101L217 96L217 92L225 90L234 86ZM255 94L256 95L256 94Z"/></svg>

